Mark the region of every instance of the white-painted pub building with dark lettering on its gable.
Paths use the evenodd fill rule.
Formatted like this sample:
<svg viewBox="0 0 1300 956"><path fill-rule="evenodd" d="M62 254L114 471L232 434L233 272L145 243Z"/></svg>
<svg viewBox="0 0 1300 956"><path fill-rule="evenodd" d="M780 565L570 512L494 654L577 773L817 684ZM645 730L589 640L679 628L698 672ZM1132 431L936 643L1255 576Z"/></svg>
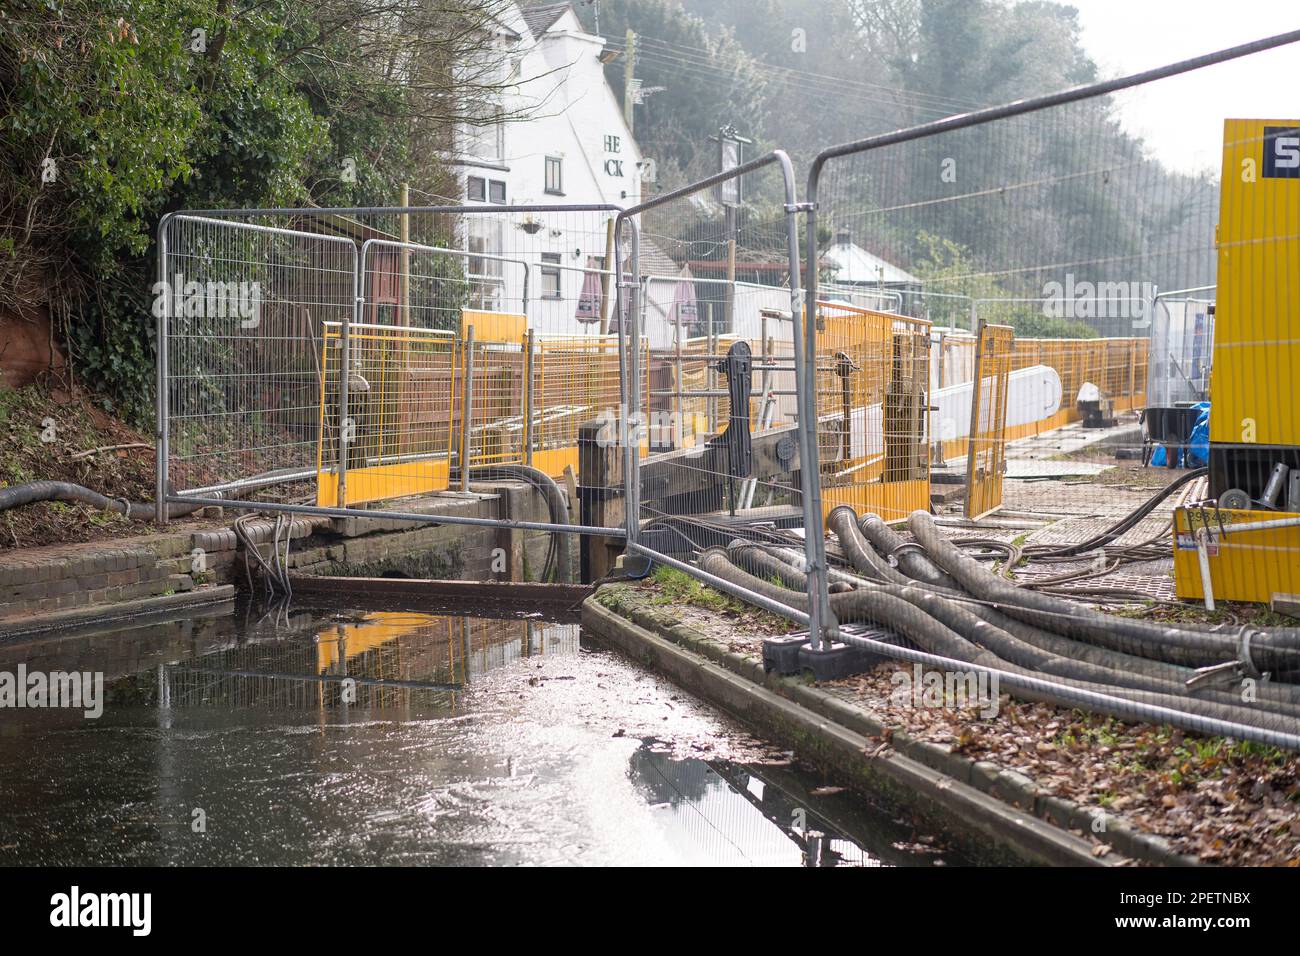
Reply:
<svg viewBox="0 0 1300 956"><path fill-rule="evenodd" d="M493 43L508 86L499 121L467 127L460 137L464 200L489 207L638 203L641 150L606 82L604 40L585 33L568 3L554 3L514 5ZM598 332L611 217L467 216L465 247L485 254L469 259L469 272L491 277L476 281L472 304L526 311L540 333Z"/></svg>

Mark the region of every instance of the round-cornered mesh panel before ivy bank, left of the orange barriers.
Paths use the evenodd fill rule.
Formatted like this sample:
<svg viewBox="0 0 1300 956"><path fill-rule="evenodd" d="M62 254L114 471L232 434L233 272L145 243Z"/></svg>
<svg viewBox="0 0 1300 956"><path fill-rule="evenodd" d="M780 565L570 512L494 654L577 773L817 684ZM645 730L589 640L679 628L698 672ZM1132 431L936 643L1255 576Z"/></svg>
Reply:
<svg viewBox="0 0 1300 956"><path fill-rule="evenodd" d="M348 316L356 247L285 226L177 216L155 289L161 429L177 492L315 477L322 328Z"/></svg>

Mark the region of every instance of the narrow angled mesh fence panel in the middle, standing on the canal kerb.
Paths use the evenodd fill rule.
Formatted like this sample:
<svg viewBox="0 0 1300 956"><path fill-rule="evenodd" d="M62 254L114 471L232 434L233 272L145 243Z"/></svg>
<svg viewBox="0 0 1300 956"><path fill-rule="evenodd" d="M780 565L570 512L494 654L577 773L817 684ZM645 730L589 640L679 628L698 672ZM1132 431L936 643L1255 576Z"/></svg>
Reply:
<svg viewBox="0 0 1300 956"><path fill-rule="evenodd" d="M760 605L692 562L820 525L796 215L789 160L771 153L633 207L618 232L623 321L650 350L621 436L630 548Z"/></svg>

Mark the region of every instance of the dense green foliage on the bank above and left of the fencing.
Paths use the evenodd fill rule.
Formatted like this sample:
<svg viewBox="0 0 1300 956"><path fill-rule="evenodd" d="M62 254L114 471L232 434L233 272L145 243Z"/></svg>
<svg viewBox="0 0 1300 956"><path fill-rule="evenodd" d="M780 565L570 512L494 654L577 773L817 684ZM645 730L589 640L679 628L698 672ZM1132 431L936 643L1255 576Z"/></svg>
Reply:
<svg viewBox="0 0 1300 956"><path fill-rule="evenodd" d="M77 375L109 410L151 416L164 212L391 203L416 178L406 91L341 29L365 9L12 0L0 12L0 304L48 290Z"/></svg>

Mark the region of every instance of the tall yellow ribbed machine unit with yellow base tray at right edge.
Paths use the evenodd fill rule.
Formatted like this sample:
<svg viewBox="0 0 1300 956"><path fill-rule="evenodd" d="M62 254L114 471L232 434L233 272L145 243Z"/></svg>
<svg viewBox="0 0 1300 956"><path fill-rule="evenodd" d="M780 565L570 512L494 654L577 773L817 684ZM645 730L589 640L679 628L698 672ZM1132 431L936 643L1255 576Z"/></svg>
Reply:
<svg viewBox="0 0 1300 956"><path fill-rule="evenodd" d="M1300 594L1300 120L1225 124L1217 245L1218 509L1174 527L1178 594L1206 606Z"/></svg>

